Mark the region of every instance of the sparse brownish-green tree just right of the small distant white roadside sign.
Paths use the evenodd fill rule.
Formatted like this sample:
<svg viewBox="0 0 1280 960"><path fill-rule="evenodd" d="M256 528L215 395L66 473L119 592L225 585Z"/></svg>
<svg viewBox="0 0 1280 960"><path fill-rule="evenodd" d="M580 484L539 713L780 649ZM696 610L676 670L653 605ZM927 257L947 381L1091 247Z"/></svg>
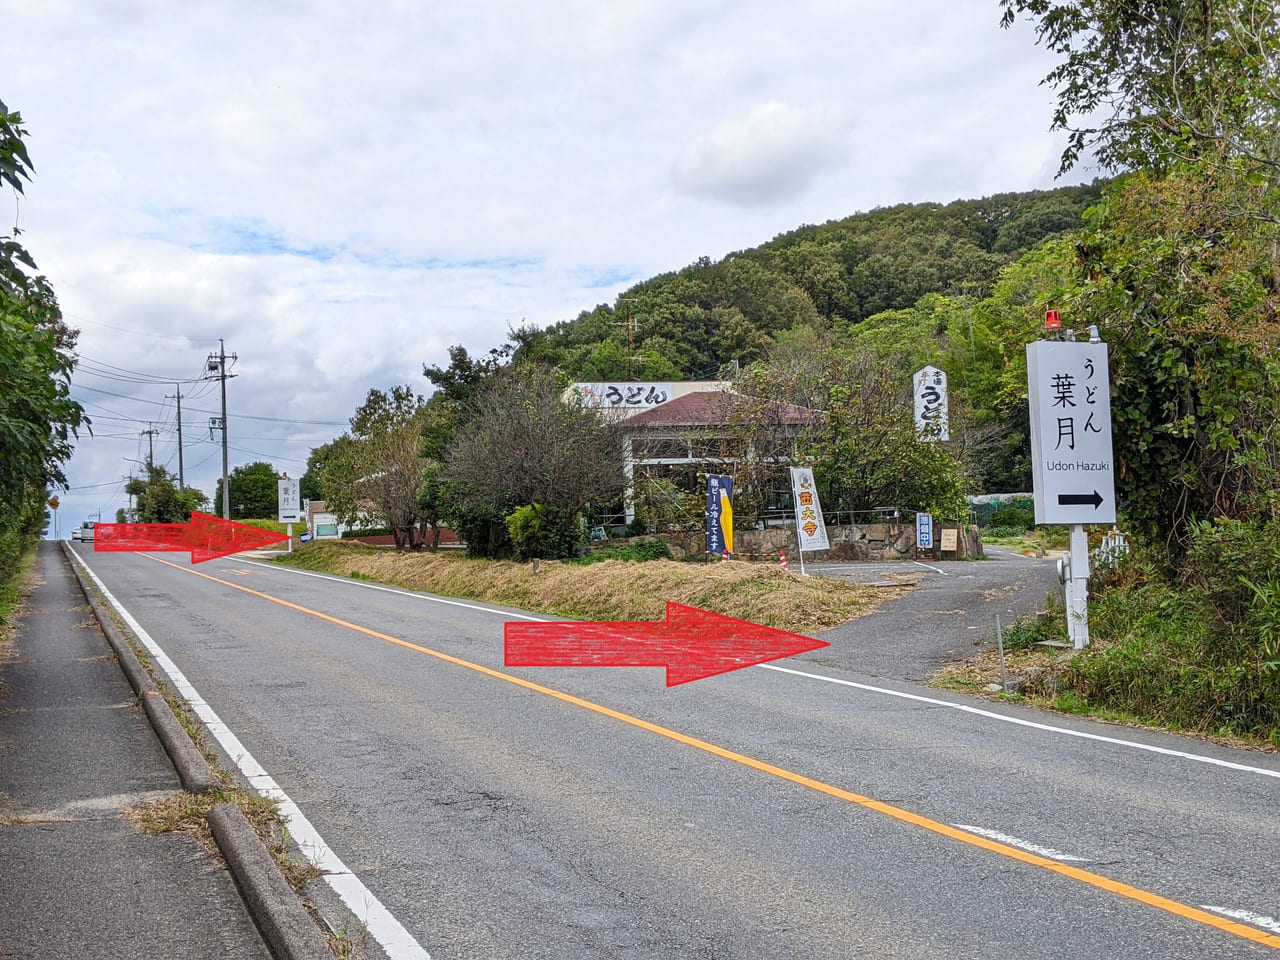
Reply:
<svg viewBox="0 0 1280 960"><path fill-rule="evenodd" d="M425 453L428 411L411 387L372 389L325 461L320 486L346 524L374 518L398 548L419 549L426 531L439 543L438 498L426 488L433 461Z"/></svg>

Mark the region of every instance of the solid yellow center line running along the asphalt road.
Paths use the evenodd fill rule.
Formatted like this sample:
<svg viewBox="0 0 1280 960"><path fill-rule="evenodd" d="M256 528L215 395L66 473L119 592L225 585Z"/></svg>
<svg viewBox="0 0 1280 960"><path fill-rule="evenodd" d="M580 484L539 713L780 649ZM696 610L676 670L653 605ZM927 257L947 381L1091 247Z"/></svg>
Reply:
<svg viewBox="0 0 1280 960"><path fill-rule="evenodd" d="M678 744L685 744L695 750L701 750L703 753L712 754L713 756L719 756L721 759L730 760L732 763L741 764L744 767L750 767L760 773L767 773L771 777L777 777L778 780L790 781L797 786L814 790L819 794L826 794L827 796L836 797L837 800L845 800L850 804L856 804L858 806L865 808L868 810L874 810L876 813L883 814L884 817L892 817L895 820L902 823L909 823L913 827L919 827L920 829L927 829L931 833L937 833L938 836L948 837L956 840L961 844L968 844L969 846L980 847L993 854L1001 856L1007 856L1011 860L1019 860L1021 863L1029 864L1032 867L1038 867L1051 873L1056 873L1061 877L1068 877L1070 879L1078 881L1080 883L1087 883L1097 890L1103 890L1108 893L1114 893L1120 897L1126 897L1129 900L1135 900L1139 904L1146 904L1147 906L1153 906L1157 910L1165 910L1166 913L1174 914L1175 916L1181 916L1187 920L1194 920L1196 923L1202 923L1207 927L1215 927L1226 933L1231 933L1236 937L1253 941L1254 943L1262 943L1265 946L1280 950L1280 936L1274 933L1267 933L1265 931L1257 929L1256 927L1248 927L1243 923L1236 923L1235 920L1228 919L1225 916L1219 916L1207 910L1201 910L1198 908L1190 906L1188 904L1181 904L1176 900L1170 900L1169 897L1162 897L1158 893L1152 893L1149 891L1142 890L1139 887L1133 887L1128 883L1121 883L1120 881L1114 881L1108 877L1103 877L1098 873L1091 873L1089 870L1082 870L1079 867L1071 867L1070 864L1060 863L1057 860L1051 860L1046 856L1038 856L1027 850L1020 850L1015 846L1009 846L1006 844L989 840L988 837L982 837L975 833L969 833L968 831L959 829L947 823L940 823L938 820L932 820L928 817L922 817L918 813L911 813L900 806L893 806L891 804L881 803L879 800L873 800L870 797L863 796L860 794L854 794L852 791L844 790L831 783L824 783L820 780L813 780L812 777L805 777L801 773L795 773L794 771L785 769L783 767L774 767L772 763L765 763L764 760L756 760L753 756L746 756L745 754L735 753L723 746L717 746L716 744L709 744L705 740L699 740L698 737L691 737L686 733L681 733L668 727L660 727L657 723L650 723L649 721L640 719L639 717L632 717L628 713L621 713L620 710L611 709L598 703L590 700L584 700L581 698L573 696L572 694L566 694L559 690L552 690L550 687L541 686L540 684L534 684L532 681L525 680L524 677L517 677L512 673L503 673L502 671L485 667L479 663L472 663L471 660L463 660L460 657L452 657L447 653L439 650L433 650L429 646L421 646L408 640L402 640L388 634L381 634L376 630L369 627L362 627L358 623L352 623L339 617L332 617L328 613L321 613L320 611L310 609L308 607L302 607L289 600L283 600L279 596L271 596L270 594L253 590L251 588L243 586L241 584L232 584L227 580L220 580L209 573L201 573L198 570L192 570L191 567L183 567L177 563L172 563L159 557L152 557L148 554L142 554L147 559L152 559L156 563L163 563L166 567L173 567L174 570L180 570L184 573L192 573L205 580L211 580L215 584L221 584L223 586L229 586L233 590L241 590L242 593L257 596L271 603L276 603L282 607L288 607L298 613L305 613L310 617L317 617L320 620L334 623L339 627L346 627L348 630L355 630L357 634L364 634L365 636L371 636L376 640L383 640L389 644L396 644L397 646L403 646L408 650L416 653L426 654L428 657L434 657L445 663L452 663L457 667L463 667L476 673L484 673L494 680L500 680L507 684L513 684L516 686L531 690L536 694L543 694L545 696L552 696L573 707L580 707L584 710L590 710L598 713L603 717L609 717L621 723L626 723L640 730L649 731L667 740L675 740Z"/></svg>

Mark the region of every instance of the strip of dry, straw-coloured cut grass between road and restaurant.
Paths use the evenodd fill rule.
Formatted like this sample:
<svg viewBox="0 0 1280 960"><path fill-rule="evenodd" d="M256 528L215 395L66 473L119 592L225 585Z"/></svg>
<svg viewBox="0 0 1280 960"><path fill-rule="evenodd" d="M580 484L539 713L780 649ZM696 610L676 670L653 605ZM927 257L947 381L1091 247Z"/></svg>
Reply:
<svg viewBox="0 0 1280 960"><path fill-rule="evenodd" d="M535 573L530 563L342 543L308 544L280 562L573 620L658 621L672 600L797 634L861 617L910 589L801 577L772 564L745 562L604 561L584 566L543 561Z"/></svg>

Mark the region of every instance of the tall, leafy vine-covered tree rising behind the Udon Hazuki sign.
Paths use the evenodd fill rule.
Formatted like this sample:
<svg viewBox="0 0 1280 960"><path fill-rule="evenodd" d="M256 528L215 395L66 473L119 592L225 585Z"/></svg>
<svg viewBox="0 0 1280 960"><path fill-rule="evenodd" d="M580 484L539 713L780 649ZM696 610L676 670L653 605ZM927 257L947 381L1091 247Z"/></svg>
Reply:
<svg viewBox="0 0 1280 960"><path fill-rule="evenodd" d="M1064 169L1092 148L1130 170L1078 242L1053 251L1038 298L1111 344L1124 516L1179 561L1197 520L1276 512L1280 12L1258 0L1002 5L1006 24L1039 18L1041 42L1065 56L1047 78L1055 125L1071 133ZM1097 125L1080 119L1102 106Z"/></svg>

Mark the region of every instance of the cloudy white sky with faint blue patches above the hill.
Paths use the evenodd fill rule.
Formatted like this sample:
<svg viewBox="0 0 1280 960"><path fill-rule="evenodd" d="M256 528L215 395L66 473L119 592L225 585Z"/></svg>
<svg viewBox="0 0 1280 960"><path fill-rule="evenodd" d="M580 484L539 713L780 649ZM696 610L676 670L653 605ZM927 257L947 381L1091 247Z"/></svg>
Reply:
<svg viewBox="0 0 1280 960"><path fill-rule="evenodd" d="M81 329L61 534L148 440L300 475L372 387L805 223L1053 186L996 0L0 0L0 195ZM143 431L155 430L155 434Z"/></svg>

